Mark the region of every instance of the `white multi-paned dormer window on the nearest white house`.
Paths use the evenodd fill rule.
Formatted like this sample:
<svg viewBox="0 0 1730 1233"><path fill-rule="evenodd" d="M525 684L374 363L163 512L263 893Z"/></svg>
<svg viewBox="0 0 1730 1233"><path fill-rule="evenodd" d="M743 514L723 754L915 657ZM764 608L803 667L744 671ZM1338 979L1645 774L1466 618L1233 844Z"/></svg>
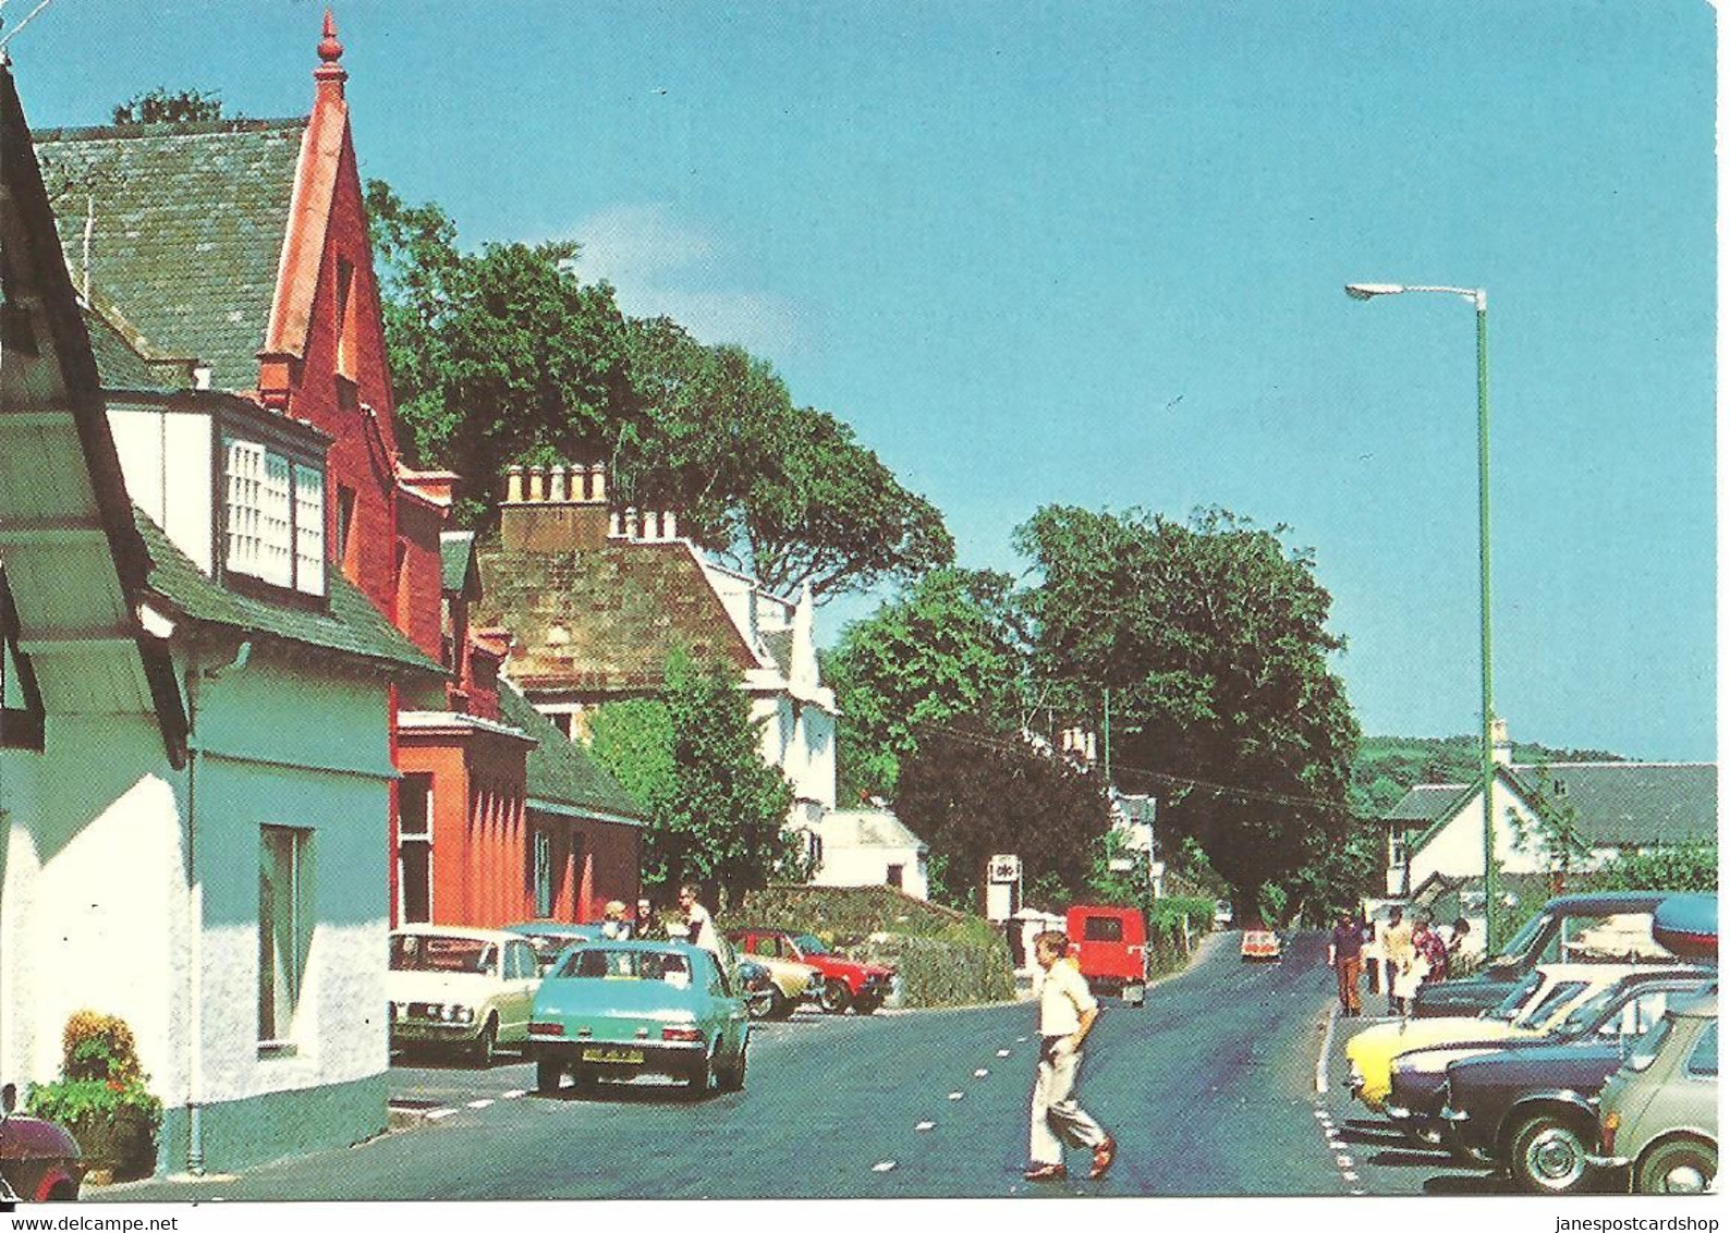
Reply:
<svg viewBox="0 0 1730 1233"><path fill-rule="evenodd" d="M324 595L324 472L256 441L227 438L230 574Z"/></svg>

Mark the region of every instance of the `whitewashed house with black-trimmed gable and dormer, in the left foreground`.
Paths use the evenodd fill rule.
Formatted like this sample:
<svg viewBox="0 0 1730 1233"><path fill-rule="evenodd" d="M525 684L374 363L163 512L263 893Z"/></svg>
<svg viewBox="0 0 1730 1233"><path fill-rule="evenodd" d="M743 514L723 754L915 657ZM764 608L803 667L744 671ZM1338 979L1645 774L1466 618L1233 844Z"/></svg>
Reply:
<svg viewBox="0 0 1730 1233"><path fill-rule="evenodd" d="M0 144L0 1072L54 1079L92 1008L166 1105L159 1169L353 1143L386 1122L391 690L443 673L322 545L237 543L282 512L247 462L322 500L318 432L99 372L3 66Z"/></svg>

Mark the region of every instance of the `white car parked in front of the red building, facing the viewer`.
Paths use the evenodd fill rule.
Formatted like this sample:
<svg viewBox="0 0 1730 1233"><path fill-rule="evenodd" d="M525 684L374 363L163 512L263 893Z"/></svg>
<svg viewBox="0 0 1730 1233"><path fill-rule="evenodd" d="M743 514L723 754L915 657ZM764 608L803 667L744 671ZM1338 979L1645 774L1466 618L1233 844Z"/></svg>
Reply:
<svg viewBox="0 0 1730 1233"><path fill-rule="evenodd" d="M526 937L500 929L405 925L391 934L384 991L391 1048L467 1055L491 1065L500 1045L519 1048L540 987Z"/></svg>

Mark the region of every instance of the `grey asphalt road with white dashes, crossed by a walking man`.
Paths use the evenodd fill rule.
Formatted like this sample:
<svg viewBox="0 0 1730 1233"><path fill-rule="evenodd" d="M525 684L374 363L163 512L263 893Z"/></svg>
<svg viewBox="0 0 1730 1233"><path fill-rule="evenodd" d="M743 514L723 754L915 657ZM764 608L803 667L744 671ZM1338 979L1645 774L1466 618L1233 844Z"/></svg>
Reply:
<svg viewBox="0 0 1730 1233"><path fill-rule="evenodd" d="M801 1012L753 1027L746 1089L692 1100L607 1084L533 1095L531 1067L400 1065L398 1103L420 1115L341 1152L240 1178L147 1181L90 1198L998 1198L1010 1195L1412 1193L1339 1164L1341 1129L1315 1091L1330 996L1322 939L1249 965L1237 934L1142 1008L1107 1003L1090 1038L1083 1103L1121 1143L1112 1174L1022 1181L1036 1058L1031 1005L879 1013ZM1330 1140L1334 1145L1330 1145ZM1356 1164L1353 1160L1353 1164ZM1355 1176L1353 1176L1355 1174ZM1377 1174L1379 1176L1379 1174ZM1370 1178L1367 1181L1367 1178Z"/></svg>

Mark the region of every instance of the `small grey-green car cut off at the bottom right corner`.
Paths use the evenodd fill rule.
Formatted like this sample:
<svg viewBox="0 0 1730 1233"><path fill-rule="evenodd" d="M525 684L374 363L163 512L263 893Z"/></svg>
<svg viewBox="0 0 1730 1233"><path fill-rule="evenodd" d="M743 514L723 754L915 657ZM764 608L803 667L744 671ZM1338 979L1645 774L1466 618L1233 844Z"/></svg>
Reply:
<svg viewBox="0 0 1730 1233"><path fill-rule="evenodd" d="M1671 1006L1604 1084L1599 1110L1595 1167L1624 1169L1642 1195L1708 1190L1718 1178L1718 996Z"/></svg>

